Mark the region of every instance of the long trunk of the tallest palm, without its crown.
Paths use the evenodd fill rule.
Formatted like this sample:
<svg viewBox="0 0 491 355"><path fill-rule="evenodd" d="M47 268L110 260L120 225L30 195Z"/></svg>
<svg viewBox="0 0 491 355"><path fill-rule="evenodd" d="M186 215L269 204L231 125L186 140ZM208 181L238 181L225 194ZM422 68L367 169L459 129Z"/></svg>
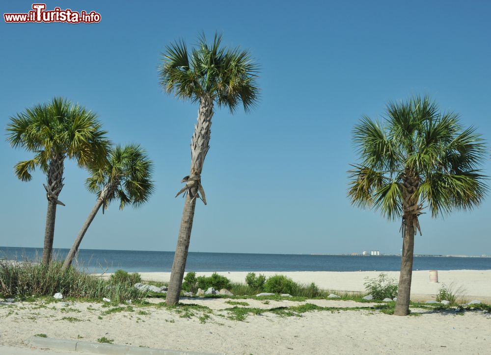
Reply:
<svg viewBox="0 0 491 355"><path fill-rule="evenodd" d="M213 99L209 95L205 95L200 99L197 124L194 127L194 134L191 139L191 173L189 177L184 178L186 181L187 197L184 203L183 215L181 218L181 228L179 229L179 237L177 238L176 253L174 254L174 262L170 273L170 281L165 303L175 305L179 303L179 295L181 294L182 281L186 268L186 260L188 258L188 249L191 239L192 221L194 218L194 207L198 192L204 200L203 190L201 187L201 171L206 153L210 149L210 127L213 117Z"/></svg>

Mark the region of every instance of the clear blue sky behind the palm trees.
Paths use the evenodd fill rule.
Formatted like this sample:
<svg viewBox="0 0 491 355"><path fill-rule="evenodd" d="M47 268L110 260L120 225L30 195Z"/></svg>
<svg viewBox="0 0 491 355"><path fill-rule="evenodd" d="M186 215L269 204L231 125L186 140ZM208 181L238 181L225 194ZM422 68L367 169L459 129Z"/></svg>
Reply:
<svg viewBox="0 0 491 355"><path fill-rule="evenodd" d="M27 12L31 1L2 1ZM115 5L117 3L117 6ZM137 6L136 6L137 4ZM99 24L5 24L1 19L2 129L10 116L62 95L96 111L116 143L141 143L155 161L157 191L138 210L111 205L82 248L173 251L197 106L163 93L159 53L218 30L262 67L262 99L250 114L216 110L191 251L398 253L399 222L346 198L351 129L389 100L428 93L491 139L490 1L47 1L95 10ZM42 247L45 177L17 180L31 155L0 142L0 246ZM484 169L491 174L490 161ZM55 247L69 248L95 202L86 173L69 163ZM491 254L491 198L473 212L421 218L415 252Z"/></svg>

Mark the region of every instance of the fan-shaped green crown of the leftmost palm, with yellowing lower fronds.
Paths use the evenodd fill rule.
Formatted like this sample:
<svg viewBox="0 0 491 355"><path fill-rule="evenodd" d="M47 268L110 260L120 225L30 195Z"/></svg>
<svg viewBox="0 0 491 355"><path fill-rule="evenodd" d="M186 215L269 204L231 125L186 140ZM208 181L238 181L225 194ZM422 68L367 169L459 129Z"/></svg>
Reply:
<svg viewBox="0 0 491 355"><path fill-rule="evenodd" d="M35 153L15 165L15 174L23 181L32 178L36 166L48 172L55 156L75 159L83 167L103 160L109 147L97 115L63 98L36 104L10 120L6 128L10 145Z"/></svg>

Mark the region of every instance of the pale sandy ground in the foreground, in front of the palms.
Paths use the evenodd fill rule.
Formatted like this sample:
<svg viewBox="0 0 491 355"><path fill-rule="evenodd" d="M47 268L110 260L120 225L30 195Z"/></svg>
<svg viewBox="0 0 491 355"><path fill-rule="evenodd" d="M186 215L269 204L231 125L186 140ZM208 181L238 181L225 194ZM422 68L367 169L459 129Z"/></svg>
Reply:
<svg viewBox="0 0 491 355"><path fill-rule="evenodd" d="M161 299L151 299L153 303ZM45 333L49 337L225 354L489 354L491 319L482 311L463 315L414 309L421 316L397 317L373 310L312 311L282 317L273 313L230 320L226 299L192 299L183 303L212 308L210 318L195 311L181 318L156 305L105 314L101 303L53 302L0 305L0 346L26 348L22 341ZM354 301L244 301L271 308L305 303L331 307L369 306ZM72 318L69 318L72 317ZM1 347L0 347L1 349Z"/></svg>

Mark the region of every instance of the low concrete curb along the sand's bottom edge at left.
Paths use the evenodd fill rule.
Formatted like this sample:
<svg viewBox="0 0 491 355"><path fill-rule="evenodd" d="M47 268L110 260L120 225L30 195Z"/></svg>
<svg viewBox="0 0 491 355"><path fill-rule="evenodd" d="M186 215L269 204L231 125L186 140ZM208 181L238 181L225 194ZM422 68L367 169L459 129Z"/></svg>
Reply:
<svg viewBox="0 0 491 355"><path fill-rule="evenodd" d="M25 341L25 343L27 345L39 348L104 355L211 355L210 353L140 348L126 345L92 343L88 341L43 338L40 336L31 336Z"/></svg>

